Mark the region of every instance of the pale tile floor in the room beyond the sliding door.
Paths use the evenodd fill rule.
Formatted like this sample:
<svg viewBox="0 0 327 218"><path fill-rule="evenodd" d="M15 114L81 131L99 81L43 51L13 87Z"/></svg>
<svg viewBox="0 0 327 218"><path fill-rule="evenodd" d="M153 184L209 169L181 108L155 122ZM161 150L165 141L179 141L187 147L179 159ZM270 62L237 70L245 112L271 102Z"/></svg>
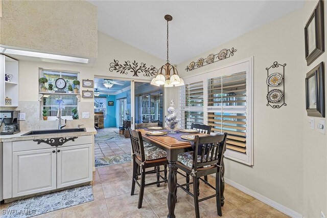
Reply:
<svg viewBox="0 0 327 218"><path fill-rule="evenodd" d="M114 133L114 130L118 128L110 128ZM124 135L119 135L120 140L114 140L109 142L95 143L95 157L103 158L114 155L131 154L131 141L129 138L125 138ZM96 135L97 137L97 135Z"/></svg>

